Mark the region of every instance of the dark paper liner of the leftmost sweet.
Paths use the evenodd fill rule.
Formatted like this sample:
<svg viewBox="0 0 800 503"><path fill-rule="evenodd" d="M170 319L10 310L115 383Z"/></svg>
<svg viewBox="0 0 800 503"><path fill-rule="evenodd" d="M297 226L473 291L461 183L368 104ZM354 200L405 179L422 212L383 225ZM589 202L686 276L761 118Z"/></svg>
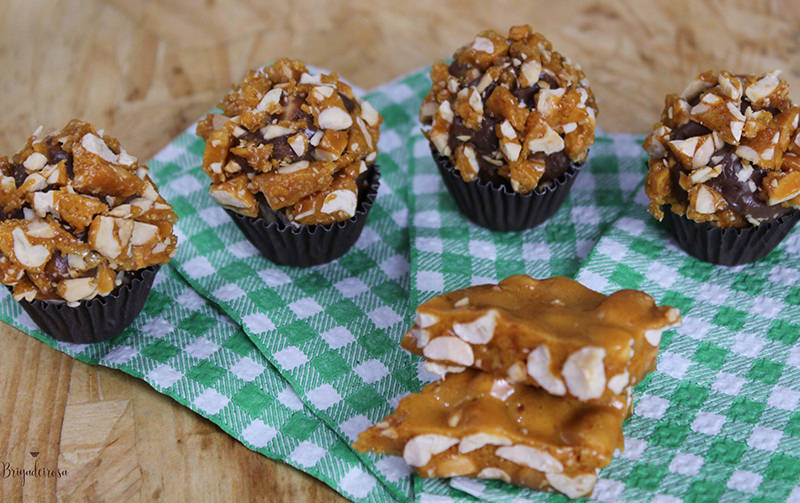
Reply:
<svg viewBox="0 0 800 503"><path fill-rule="evenodd" d="M74 344L106 341L119 335L139 316L160 267L151 265L133 271L128 282L110 294L82 300L76 307L45 300L22 300L20 305L54 339Z"/></svg>

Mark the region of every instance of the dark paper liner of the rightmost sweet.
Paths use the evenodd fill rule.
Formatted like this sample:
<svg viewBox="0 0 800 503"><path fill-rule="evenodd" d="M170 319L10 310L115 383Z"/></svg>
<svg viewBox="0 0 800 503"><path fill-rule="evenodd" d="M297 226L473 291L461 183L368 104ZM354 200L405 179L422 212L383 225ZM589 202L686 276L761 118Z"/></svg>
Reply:
<svg viewBox="0 0 800 503"><path fill-rule="evenodd" d="M686 253L704 262L729 266L755 262L764 257L800 220L800 210L795 210L756 227L722 228L677 215L669 207L663 209L663 222Z"/></svg>

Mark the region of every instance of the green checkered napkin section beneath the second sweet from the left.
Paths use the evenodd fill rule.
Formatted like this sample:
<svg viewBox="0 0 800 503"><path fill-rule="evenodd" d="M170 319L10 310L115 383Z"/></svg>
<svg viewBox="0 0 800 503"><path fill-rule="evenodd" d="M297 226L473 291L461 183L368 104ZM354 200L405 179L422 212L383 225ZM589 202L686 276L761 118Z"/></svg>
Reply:
<svg viewBox="0 0 800 503"><path fill-rule="evenodd" d="M191 131L151 162L180 216L172 264L242 325L302 402L346 442L427 382L399 340L411 319L408 138L429 85L425 74L414 74L366 96L384 118L380 190L358 242L330 264L290 268L262 257L208 196L204 145ZM395 497L411 497L404 463L357 455Z"/></svg>

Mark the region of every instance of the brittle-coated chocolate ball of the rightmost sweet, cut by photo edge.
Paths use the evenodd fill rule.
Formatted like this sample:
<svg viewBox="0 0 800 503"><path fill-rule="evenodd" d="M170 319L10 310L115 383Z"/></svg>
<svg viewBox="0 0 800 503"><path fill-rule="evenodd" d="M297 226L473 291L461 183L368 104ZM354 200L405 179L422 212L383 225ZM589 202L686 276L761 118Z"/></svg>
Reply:
<svg viewBox="0 0 800 503"><path fill-rule="evenodd" d="M800 107L779 74L707 71L667 96L643 145L653 216L741 228L800 208Z"/></svg>

